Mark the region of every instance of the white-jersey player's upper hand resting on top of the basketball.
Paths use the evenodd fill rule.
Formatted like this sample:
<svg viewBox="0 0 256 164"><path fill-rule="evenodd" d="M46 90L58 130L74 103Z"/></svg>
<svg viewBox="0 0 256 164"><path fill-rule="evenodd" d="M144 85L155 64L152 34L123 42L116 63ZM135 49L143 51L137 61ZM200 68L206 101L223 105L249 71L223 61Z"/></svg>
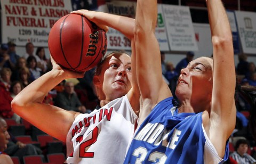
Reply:
<svg viewBox="0 0 256 164"><path fill-rule="evenodd" d="M108 26L101 24L94 20L94 15L97 14L97 11L90 11L90 10L76 10L72 11L71 14L79 14L83 15L85 18L89 19L90 21L94 22L97 26L99 26L101 29L103 29L105 32L108 31Z"/></svg>

